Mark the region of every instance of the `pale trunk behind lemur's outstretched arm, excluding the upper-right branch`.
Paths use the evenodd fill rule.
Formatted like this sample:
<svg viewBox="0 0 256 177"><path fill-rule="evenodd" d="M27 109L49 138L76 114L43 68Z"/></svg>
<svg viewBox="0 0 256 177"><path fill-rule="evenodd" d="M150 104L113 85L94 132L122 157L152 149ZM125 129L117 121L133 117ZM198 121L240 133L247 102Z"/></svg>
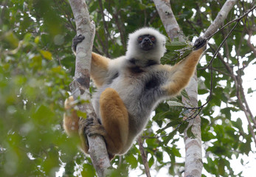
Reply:
<svg viewBox="0 0 256 177"><path fill-rule="evenodd" d="M179 41L184 41L184 35L181 31L179 24L176 21L173 11L170 7L170 1L167 0L153 0L156 4L156 9L159 13L159 16L162 19L162 23L165 26L165 30L168 36L173 41L174 38L179 38ZM166 13L168 12L168 13ZM198 105L197 100L197 76L194 74L193 78L190 80L189 85L186 88L187 94L190 97L190 100L187 100L185 97L182 97L184 105ZM188 106L188 107L190 107ZM192 110L187 113L187 117L193 114ZM195 135L194 139L191 139L187 136L188 128L192 127L192 132ZM201 119L196 117L191 119L189 125L184 131L184 143L185 143L185 176L201 176L201 171L203 168L202 162L202 153L201 153Z"/></svg>

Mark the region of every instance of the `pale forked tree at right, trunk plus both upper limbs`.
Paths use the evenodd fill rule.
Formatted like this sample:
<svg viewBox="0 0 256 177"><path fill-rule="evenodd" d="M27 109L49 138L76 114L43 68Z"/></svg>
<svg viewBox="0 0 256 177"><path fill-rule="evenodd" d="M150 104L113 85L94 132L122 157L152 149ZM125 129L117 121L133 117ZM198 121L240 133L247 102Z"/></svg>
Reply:
<svg viewBox="0 0 256 177"><path fill-rule="evenodd" d="M153 0L156 4L156 9L159 13L159 16L162 19L162 23L165 26L165 30L167 35L172 39L179 38L179 41L184 41L181 39L181 34L183 32L179 28L179 24L177 23L175 16L173 15L173 11L170 7L170 0ZM212 22L210 27L204 32L203 38L208 38L214 32L221 27L228 15L229 11L234 6L236 0L227 0L224 6L221 8L221 11L218 13L215 20ZM169 18L169 19L165 19ZM172 24L167 24L172 23ZM173 30L173 32L172 32ZM182 97L182 101L185 106L193 105L193 107L198 106L198 84L197 84L197 76L196 73L191 78L189 85L186 88L187 94L189 95L190 99L187 100L185 97ZM187 107L190 107L187 106ZM187 113L187 117L193 115L193 111ZM191 127L191 131L195 137L190 138L187 136L187 130ZM203 168L202 162L202 153L201 153L201 119L199 116L196 116L194 119L191 119L189 125L187 126L186 130L184 131L184 144L185 144L185 170L184 176L201 176L201 171Z"/></svg>

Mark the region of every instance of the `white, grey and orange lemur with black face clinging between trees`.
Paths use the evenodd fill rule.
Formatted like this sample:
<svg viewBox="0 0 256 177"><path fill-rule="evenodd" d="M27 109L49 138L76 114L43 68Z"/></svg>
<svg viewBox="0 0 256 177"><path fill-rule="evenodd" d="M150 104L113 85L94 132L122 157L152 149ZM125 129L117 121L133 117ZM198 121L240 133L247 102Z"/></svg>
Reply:
<svg viewBox="0 0 256 177"><path fill-rule="evenodd" d="M81 35L74 38L74 50L83 39ZM87 118L85 128L88 136L104 137L110 159L129 150L159 102L176 96L187 86L205 44L206 40L199 38L187 58L174 66L162 65L165 35L145 27L129 35L125 56L111 60L92 52L91 78L97 86L92 104L100 124ZM72 100L66 100L66 109ZM68 134L77 134L78 120L75 111L64 115ZM88 153L88 145L83 142L81 146Z"/></svg>

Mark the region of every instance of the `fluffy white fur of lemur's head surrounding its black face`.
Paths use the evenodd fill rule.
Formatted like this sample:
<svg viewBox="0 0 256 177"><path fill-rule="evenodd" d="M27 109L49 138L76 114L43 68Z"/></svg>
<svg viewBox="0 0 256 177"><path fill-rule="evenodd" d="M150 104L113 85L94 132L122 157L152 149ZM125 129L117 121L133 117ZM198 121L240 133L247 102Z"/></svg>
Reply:
<svg viewBox="0 0 256 177"><path fill-rule="evenodd" d="M138 37L140 35L153 35L156 38L156 45L149 51L144 51L138 46ZM137 60L156 60L159 62L160 58L165 54L165 35L162 35L158 30L151 27L144 27L129 35L126 58L136 58Z"/></svg>

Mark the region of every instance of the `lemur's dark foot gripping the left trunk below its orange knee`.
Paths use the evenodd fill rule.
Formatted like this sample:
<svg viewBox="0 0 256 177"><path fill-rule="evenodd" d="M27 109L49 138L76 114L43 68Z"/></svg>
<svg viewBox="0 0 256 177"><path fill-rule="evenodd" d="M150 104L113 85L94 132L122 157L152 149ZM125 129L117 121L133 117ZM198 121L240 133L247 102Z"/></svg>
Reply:
<svg viewBox="0 0 256 177"><path fill-rule="evenodd" d="M100 123L95 123L94 119L91 117L88 117L86 119L85 128L86 134L88 136L92 136L95 134L105 136L105 128L103 127L103 125L100 125Z"/></svg>

